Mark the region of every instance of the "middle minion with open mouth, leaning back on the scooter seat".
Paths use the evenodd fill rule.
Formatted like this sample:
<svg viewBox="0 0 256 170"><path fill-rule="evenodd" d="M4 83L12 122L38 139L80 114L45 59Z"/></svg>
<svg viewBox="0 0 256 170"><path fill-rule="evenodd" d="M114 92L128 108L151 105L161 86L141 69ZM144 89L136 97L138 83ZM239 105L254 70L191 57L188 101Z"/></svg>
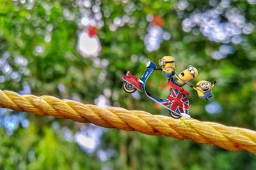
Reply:
<svg viewBox="0 0 256 170"><path fill-rule="evenodd" d="M173 82L177 84L178 86L183 86L186 82L190 81L191 79L194 79L198 75L198 70L189 65L186 70L183 72L179 73L179 75L175 75L173 78Z"/></svg>

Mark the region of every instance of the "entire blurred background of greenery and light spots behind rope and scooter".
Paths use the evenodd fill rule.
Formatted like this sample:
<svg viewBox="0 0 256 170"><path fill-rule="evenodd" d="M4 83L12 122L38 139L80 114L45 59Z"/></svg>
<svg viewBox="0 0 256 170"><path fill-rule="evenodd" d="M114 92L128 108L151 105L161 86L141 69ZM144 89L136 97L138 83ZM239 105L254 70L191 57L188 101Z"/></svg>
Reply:
<svg viewBox="0 0 256 170"><path fill-rule="evenodd" d="M201 121L256 128L255 0L1 0L0 88L170 116L122 76L175 57L218 84L191 92ZM161 72L147 83L168 95ZM0 109L1 169L256 169L255 154Z"/></svg>

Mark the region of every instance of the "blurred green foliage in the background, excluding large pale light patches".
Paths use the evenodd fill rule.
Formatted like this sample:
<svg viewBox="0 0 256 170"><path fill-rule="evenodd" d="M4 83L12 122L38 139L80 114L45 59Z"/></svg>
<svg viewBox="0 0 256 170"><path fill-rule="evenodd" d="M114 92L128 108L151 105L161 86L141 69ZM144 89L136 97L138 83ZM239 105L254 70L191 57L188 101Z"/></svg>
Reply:
<svg viewBox="0 0 256 170"><path fill-rule="evenodd" d="M166 109L157 107L145 95L141 94L141 99L136 100L125 93L121 77L127 70L140 76L145 70L145 61L157 63L159 58L172 54L178 72L188 65L201 68L202 72L192 81L193 84L201 79L218 82L213 89L214 99L210 102L191 91L189 101L193 118L255 129L255 29L242 35L241 43L229 43L234 52L227 58L213 59L212 52L223 43L209 40L198 27L191 32L182 30L182 20L194 12L212 8L210 1L187 1L189 5L182 11L177 9L179 2L102 1L100 9L105 12L102 16L104 26L98 30L102 51L98 58L83 58L77 52L77 36L83 29L77 22L84 12L78 5L79 1L1 0L0 56L8 52L8 63L13 72L19 72L15 58L23 56L28 60L26 69L29 73L20 73L20 81L6 75L0 88L20 91L22 83L28 82L33 95L53 95L86 104L93 104L95 98L108 89L111 95L107 98L111 105L168 116ZM246 22L255 26L255 3L228 2L230 8L239 9ZM127 12L128 5L135 7ZM65 15L65 12L70 15ZM164 40L160 49L154 52L147 52L143 42L150 26L147 21L149 14L162 17L165 21L163 29L171 35L170 40ZM133 22L111 31L109 26L113 20L124 15L129 15ZM45 40L49 37L50 40ZM95 65L96 61L103 59L108 60L106 68ZM102 72L106 72L106 77ZM102 77L103 81L99 81ZM168 94L165 83L161 73L156 72L147 85L150 92L165 97ZM218 102L221 111L207 113L205 105L211 102ZM226 151L192 141L113 129L104 129L99 146L89 153L74 140L63 139L61 128L52 128L57 123L76 133L81 124L42 116L29 115L28 118L29 128L20 127L13 135L6 135L3 128L0 129L1 169L256 169L255 155L246 151ZM97 155L102 150L109 153L106 160L100 160Z"/></svg>

